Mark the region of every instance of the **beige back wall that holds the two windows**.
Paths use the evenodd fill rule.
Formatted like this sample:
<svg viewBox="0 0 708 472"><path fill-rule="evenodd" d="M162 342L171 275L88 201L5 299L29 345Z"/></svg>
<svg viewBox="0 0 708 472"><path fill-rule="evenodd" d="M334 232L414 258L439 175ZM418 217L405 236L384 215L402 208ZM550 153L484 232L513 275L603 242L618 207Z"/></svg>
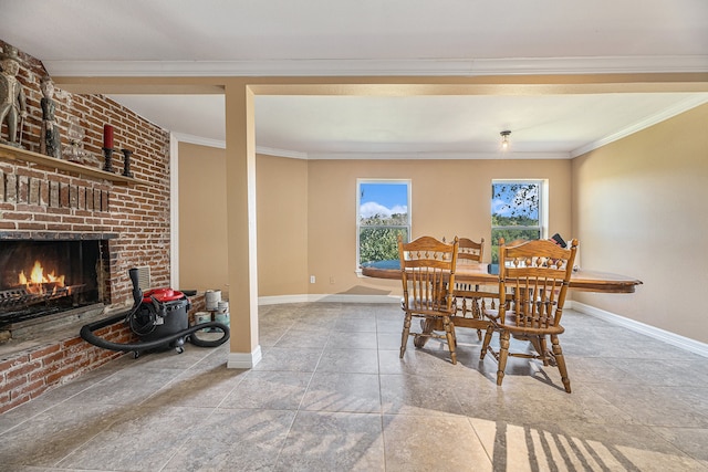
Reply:
<svg viewBox="0 0 708 472"><path fill-rule="evenodd" d="M410 179L412 237L485 238L487 260L492 179L549 179L550 232L571 229L570 160L311 160L308 168L310 293L398 293L397 283L356 276L357 178Z"/></svg>

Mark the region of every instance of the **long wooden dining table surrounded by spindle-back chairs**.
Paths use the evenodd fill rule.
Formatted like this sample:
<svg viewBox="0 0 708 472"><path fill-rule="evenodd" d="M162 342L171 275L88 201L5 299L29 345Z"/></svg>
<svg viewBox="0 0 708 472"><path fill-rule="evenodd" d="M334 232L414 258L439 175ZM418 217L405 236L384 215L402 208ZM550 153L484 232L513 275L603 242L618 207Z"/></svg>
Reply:
<svg viewBox="0 0 708 472"><path fill-rule="evenodd" d="M397 260L379 261L361 266L362 275L374 279L400 280L400 265ZM455 270L454 291L459 297L494 297L493 286L499 283L499 268L489 263L466 263L458 264ZM636 287L642 285L642 281L632 276L613 274L608 272L597 272L592 270L574 270L569 283L569 290L597 293L634 293ZM497 285L498 286L498 285ZM490 290L487 291L486 287ZM462 316L452 316L455 327L466 327L477 329L478 333L485 331L489 322L481 314L473 316L462 313ZM421 321L423 334L416 336L415 346L423 347L428 334L433 331L442 329L442 321Z"/></svg>

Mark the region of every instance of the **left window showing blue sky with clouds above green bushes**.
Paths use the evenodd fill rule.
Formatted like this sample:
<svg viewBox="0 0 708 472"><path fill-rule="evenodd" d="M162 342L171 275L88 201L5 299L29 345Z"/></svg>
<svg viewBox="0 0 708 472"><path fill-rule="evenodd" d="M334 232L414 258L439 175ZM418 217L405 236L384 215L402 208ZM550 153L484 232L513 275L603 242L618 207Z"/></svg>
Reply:
<svg viewBox="0 0 708 472"><path fill-rule="evenodd" d="M358 179L356 183L357 268L397 264L398 234L406 242L410 234L410 181Z"/></svg>

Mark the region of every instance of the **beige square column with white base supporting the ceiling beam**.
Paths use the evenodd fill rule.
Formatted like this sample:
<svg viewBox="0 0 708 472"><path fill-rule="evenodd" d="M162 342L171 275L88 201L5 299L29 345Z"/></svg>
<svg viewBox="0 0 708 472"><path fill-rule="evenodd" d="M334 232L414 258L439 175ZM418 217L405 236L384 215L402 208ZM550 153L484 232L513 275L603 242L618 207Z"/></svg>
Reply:
<svg viewBox="0 0 708 472"><path fill-rule="evenodd" d="M229 368L251 368L258 344L256 234L256 126L253 93L241 81L226 85L227 248L231 344Z"/></svg>

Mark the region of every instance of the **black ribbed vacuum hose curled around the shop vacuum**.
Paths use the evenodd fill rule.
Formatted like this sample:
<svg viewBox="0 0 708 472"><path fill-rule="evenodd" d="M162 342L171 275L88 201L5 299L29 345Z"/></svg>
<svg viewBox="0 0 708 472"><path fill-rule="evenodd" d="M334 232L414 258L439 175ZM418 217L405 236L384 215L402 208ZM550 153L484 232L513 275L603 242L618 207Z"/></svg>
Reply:
<svg viewBox="0 0 708 472"><path fill-rule="evenodd" d="M166 334L165 336L162 336L157 339L144 340L140 343L112 343L110 340L106 340L102 337L96 336L94 332L97 329L104 328L106 326L111 326L119 322L124 322L126 319L131 322L135 313L140 307L140 303L143 303L143 291L138 285L137 269L131 269L128 271L128 274L131 276L131 281L133 282L133 301L134 301L133 308L131 308L128 312L123 312L121 314L107 317L105 319L98 319L96 322L84 325L80 332L80 335L84 340L93 344L94 346L102 347L104 349L119 350L119 352L126 352L126 353L134 350L137 357L140 350L154 349L173 342L177 342L178 348L181 349L181 344L184 344L184 339L188 339L191 344L199 347L217 347L222 345L229 339L230 337L229 327L223 323L219 323L219 322L201 323L199 325L191 326L176 333ZM153 303L156 305L155 308L159 312L160 311L159 302L153 298ZM223 335L217 339L210 339L210 340L200 339L199 337L194 336L196 332L206 329L206 328L218 328L223 333Z"/></svg>

